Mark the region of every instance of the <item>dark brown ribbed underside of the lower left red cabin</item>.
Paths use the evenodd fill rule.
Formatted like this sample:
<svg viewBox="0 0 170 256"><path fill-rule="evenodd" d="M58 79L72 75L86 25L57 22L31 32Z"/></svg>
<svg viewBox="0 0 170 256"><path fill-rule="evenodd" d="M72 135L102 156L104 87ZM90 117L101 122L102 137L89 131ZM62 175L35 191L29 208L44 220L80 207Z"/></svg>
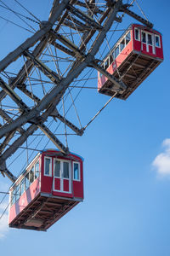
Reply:
<svg viewBox="0 0 170 256"><path fill-rule="evenodd" d="M40 193L9 224L11 228L46 231L80 201Z"/></svg>

